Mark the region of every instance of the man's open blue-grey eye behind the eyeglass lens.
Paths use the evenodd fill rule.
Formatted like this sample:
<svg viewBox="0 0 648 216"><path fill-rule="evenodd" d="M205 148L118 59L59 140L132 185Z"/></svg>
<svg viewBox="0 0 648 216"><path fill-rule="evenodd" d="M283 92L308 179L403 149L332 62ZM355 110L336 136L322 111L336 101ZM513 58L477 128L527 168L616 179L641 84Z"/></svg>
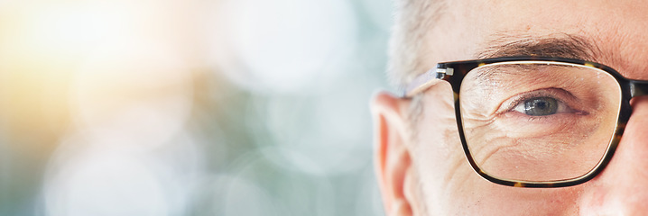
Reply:
<svg viewBox="0 0 648 216"><path fill-rule="evenodd" d="M520 112L530 116L546 116L556 113L570 112L571 108L560 100L552 97L532 97L517 103L514 112Z"/></svg>

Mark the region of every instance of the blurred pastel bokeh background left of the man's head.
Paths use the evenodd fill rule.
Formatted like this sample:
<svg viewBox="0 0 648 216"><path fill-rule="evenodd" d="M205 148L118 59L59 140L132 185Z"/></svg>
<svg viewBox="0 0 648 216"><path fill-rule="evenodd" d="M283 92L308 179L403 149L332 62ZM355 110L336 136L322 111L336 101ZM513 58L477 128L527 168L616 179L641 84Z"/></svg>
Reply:
<svg viewBox="0 0 648 216"><path fill-rule="evenodd" d="M391 0L0 0L0 215L383 215Z"/></svg>

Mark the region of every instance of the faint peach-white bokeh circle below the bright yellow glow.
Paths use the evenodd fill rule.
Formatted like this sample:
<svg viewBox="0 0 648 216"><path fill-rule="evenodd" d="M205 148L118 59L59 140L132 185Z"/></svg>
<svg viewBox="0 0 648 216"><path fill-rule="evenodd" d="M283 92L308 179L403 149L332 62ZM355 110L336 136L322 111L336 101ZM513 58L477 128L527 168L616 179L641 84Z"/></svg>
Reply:
<svg viewBox="0 0 648 216"><path fill-rule="evenodd" d="M79 127L98 137L153 148L184 126L192 105L190 70L164 44L139 41L97 51L77 78Z"/></svg>

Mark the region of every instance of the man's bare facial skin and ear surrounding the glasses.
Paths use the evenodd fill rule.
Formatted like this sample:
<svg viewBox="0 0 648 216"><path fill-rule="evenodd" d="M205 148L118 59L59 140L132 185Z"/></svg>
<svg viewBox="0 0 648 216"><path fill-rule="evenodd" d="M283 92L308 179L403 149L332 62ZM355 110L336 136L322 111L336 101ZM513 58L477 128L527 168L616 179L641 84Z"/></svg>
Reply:
<svg viewBox="0 0 648 216"><path fill-rule="evenodd" d="M646 12L648 1L449 1L422 43L430 54L421 61L431 68L442 61L515 55L529 50L506 44L576 37L592 43L598 63L648 79ZM545 189L494 184L477 175L461 147L453 102L448 83L422 93L420 112L411 109L410 99L375 96L376 166L388 215L648 212L648 98L631 101L630 121L601 174L585 184Z"/></svg>

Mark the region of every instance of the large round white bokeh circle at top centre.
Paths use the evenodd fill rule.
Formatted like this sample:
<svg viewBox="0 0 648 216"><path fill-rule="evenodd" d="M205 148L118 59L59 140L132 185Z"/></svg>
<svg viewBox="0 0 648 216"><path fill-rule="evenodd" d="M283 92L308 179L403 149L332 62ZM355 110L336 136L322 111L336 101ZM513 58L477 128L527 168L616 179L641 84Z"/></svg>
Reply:
<svg viewBox="0 0 648 216"><path fill-rule="evenodd" d="M214 36L225 75L255 90L310 91L337 77L356 49L357 26L346 0L227 1Z"/></svg>

